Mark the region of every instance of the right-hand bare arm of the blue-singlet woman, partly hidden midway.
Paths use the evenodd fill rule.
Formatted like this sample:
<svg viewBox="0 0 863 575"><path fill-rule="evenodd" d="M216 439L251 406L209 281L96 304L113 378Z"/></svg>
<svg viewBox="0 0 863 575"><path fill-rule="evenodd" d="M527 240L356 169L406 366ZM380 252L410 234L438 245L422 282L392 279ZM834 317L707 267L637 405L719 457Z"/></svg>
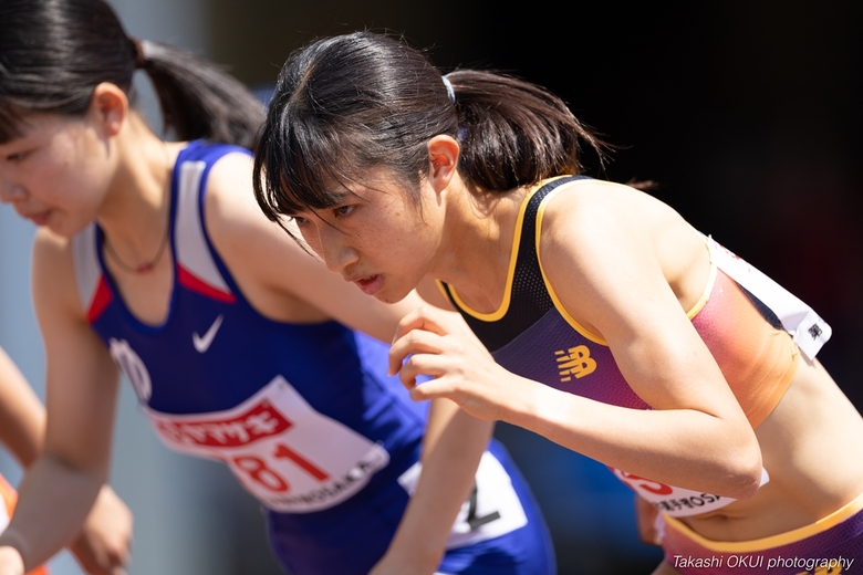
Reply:
<svg viewBox="0 0 863 575"><path fill-rule="evenodd" d="M247 158L226 157L214 168L207 198L208 229L243 294L273 318L335 320L391 343L398 321L423 303L419 296L412 293L397 304L385 304L327 270L263 217L250 191L250 174ZM249 192L237 194L238 189ZM293 305L293 300L300 305ZM434 573L470 494L491 429L490 422L465 414L451 401L434 401L416 492L374 573Z"/></svg>

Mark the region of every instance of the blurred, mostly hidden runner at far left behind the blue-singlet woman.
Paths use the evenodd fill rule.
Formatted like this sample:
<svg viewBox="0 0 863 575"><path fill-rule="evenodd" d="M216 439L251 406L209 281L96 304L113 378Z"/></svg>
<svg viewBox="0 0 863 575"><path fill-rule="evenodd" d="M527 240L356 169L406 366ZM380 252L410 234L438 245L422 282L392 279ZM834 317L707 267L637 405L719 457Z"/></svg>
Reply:
<svg viewBox="0 0 863 575"><path fill-rule="evenodd" d="M23 468L29 467L42 449L45 410L6 352L0 348L0 440ZM18 494L0 477L0 530L9 524ZM92 575L111 575L115 565L128 561L132 539L132 513L114 491L104 485L96 503L82 525L81 533L69 545L77 562ZM30 575L45 574L45 567Z"/></svg>

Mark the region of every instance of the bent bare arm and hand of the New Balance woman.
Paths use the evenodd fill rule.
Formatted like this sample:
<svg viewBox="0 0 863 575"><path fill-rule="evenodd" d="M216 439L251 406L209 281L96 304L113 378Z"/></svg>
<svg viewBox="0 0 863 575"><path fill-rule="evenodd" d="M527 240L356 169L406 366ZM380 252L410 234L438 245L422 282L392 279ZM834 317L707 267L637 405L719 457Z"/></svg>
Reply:
<svg viewBox="0 0 863 575"><path fill-rule="evenodd" d="M547 210L553 216L545 216L543 269L564 309L602 334L653 410L601 404L519 377L476 346L441 347L428 327L439 323L433 310L402 322L391 368L414 353L402 378L415 398L448 397L478 417L503 419L655 481L750 496L761 466L755 433L664 278L649 233L637 215L621 216L602 202L552 209L563 201L557 198ZM449 354L461 356L457 369ZM415 387L419 373L440 375Z"/></svg>

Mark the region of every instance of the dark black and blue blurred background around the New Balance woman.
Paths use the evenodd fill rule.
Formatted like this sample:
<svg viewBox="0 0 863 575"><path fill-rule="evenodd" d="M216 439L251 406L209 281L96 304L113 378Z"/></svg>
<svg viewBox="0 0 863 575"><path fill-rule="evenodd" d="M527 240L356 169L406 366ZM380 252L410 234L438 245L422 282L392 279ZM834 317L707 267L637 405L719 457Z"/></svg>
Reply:
<svg viewBox="0 0 863 575"><path fill-rule="evenodd" d="M345 3L214 0L212 50L274 80L319 35L403 34L445 72L496 69L562 96L617 147L603 176L653 195L810 303L833 326L820 358L863 407L863 3ZM601 466L500 426L552 527L560 572L649 573L632 495Z"/></svg>

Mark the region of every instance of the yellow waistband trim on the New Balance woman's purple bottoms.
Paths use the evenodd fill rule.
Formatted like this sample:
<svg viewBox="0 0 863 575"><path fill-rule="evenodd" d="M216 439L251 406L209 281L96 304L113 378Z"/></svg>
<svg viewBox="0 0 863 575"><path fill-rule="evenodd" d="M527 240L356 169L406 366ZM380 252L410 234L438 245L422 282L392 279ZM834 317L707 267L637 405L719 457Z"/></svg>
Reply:
<svg viewBox="0 0 863 575"><path fill-rule="evenodd" d="M680 520L663 514L663 521L668 527L674 529L685 537L690 539L698 545L708 551L719 553L751 553L756 551L766 551L782 545L790 545L798 541L803 541L813 535L818 535L830 527L839 525L843 521L863 511L863 493L854 498L850 503L841 506L830 515L822 518L814 523L798 527L778 535L770 535L750 541L713 541L699 535Z"/></svg>

